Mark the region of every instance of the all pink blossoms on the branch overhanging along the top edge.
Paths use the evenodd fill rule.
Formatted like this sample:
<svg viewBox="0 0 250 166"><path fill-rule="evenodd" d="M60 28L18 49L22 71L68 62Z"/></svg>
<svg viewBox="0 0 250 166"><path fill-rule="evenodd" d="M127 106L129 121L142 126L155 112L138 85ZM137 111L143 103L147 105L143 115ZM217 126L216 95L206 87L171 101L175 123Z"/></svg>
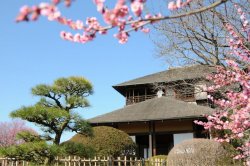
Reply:
<svg viewBox="0 0 250 166"><path fill-rule="evenodd" d="M168 18L163 17L160 13L151 14L148 11L145 12L146 0L116 0L114 8L112 9L105 5L105 0L93 0L97 11L102 14L103 20L106 23L106 25L101 26L96 17L87 18L85 21L73 21L63 17L57 7L62 1L66 6L70 6L73 0L51 0L50 3L42 2L33 7L23 6L20 9L16 21L34 21L37 20L40 15L45 16L50 21L57 21L70 27L72 30L80 31L75 34L65 31L60 33L61 38L78 43L92 41L97 36L97 33L106 34L109 29L116 27L118 32L114 37L117 38L121 44L124 44L128 41L129 32L140 30L141 32L148 33L150 29L146 27L146 25ZM170 1L166 5L166 8L177 10L189 5L191 2L192 0Z"/></svg>

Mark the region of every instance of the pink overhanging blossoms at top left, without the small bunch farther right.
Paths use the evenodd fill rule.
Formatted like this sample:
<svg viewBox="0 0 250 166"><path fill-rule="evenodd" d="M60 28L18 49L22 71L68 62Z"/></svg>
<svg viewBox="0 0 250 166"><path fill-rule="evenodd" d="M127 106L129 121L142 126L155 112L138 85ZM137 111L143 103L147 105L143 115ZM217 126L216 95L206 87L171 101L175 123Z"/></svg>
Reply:
<svg viewBox="0 0 250 166"><path fill-rule="evenodd" d="M133 16L129 12L129 10L131 10L136 17L141 17L145 0L134 0L131 2L130 8L126 4L126 0L118 0L114 9L108 9L104 4L105 0L94 0L97 11L102 14L103 20L107 24L105 27L101 26L95 17L87 18L85 24L81 20L73 21L63 17L57 8L57 5L60 2L61 0L52 0L51 3L40 3L38 6L23 6L20 9L16 21L34 21L37 20L40 15L45 16L48 20L57 21L73 30L81 30L81 34L76 33L73 35L71 32L63 31L60 35L65 40L79 43L86 43L93 40L96 37L97 32L100 34L106 34L107 30L113 27L118 27L119 29L118 34L115 35L115 37L119 39L119 42L126 43L128 40L128 32L125 31L127 24L130 24L132 29L137 30L140 27L143 32L149 32L148 29L143 28L143 21L140 21L142 18L133 22ZM65 0L65 4L69 6L71 0ZM146 17L149 18L149 16Z"/></svg>

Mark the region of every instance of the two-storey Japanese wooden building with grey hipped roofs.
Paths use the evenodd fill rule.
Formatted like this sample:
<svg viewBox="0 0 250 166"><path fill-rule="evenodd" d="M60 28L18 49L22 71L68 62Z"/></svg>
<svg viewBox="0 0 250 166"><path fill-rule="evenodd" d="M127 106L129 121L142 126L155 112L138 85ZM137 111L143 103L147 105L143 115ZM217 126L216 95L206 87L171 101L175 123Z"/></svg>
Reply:
<svg viewBox="0 0 250 166"><path fill-rule="evenodd" d="M106 125L128 133L138 146L139 157L168 154L179 142L207 137L194 120L205 120L213 109L204 77L210 66L174 68L113 86L125 97L124 108L89 119L93 126Z"/></svg>

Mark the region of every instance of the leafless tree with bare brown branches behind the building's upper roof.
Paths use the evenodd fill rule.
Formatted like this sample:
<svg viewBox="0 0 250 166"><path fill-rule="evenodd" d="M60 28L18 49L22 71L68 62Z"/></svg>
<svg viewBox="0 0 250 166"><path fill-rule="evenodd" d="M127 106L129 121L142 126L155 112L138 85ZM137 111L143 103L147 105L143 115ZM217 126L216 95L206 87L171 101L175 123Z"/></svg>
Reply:
<svg viewBox="0 0 250 166"><path fill-rule="evenodd" d="M199 0L176 13L184 13L200 8L214 0ZM237 15L237 4L249 12L249 0L229 1L217 8L197 13L184 18L162 21L155 26L154 43L156 53L163 57L170 66L186 64L222 65L226 64L228 31L225 24L230 23L240 33L242 22ZM241 34L244 36L244 34ZM244 36L247 38L247 36Z"/></svg>

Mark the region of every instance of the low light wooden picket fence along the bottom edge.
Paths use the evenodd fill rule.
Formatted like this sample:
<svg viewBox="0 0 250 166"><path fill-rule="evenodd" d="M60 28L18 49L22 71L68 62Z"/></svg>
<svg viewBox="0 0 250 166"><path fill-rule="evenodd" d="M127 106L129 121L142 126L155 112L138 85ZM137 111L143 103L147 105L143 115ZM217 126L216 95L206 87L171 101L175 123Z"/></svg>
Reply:
<svg viewBox="0 0 250 166"><path fill-rule="evenodd" d="M34 166L27 161L17 161L14 158L0 158L0 166ZM166 166L166 160L163 159L138 159L128 157L95 157L85 159L80 157L57 157L53 166Z"/></svg>

